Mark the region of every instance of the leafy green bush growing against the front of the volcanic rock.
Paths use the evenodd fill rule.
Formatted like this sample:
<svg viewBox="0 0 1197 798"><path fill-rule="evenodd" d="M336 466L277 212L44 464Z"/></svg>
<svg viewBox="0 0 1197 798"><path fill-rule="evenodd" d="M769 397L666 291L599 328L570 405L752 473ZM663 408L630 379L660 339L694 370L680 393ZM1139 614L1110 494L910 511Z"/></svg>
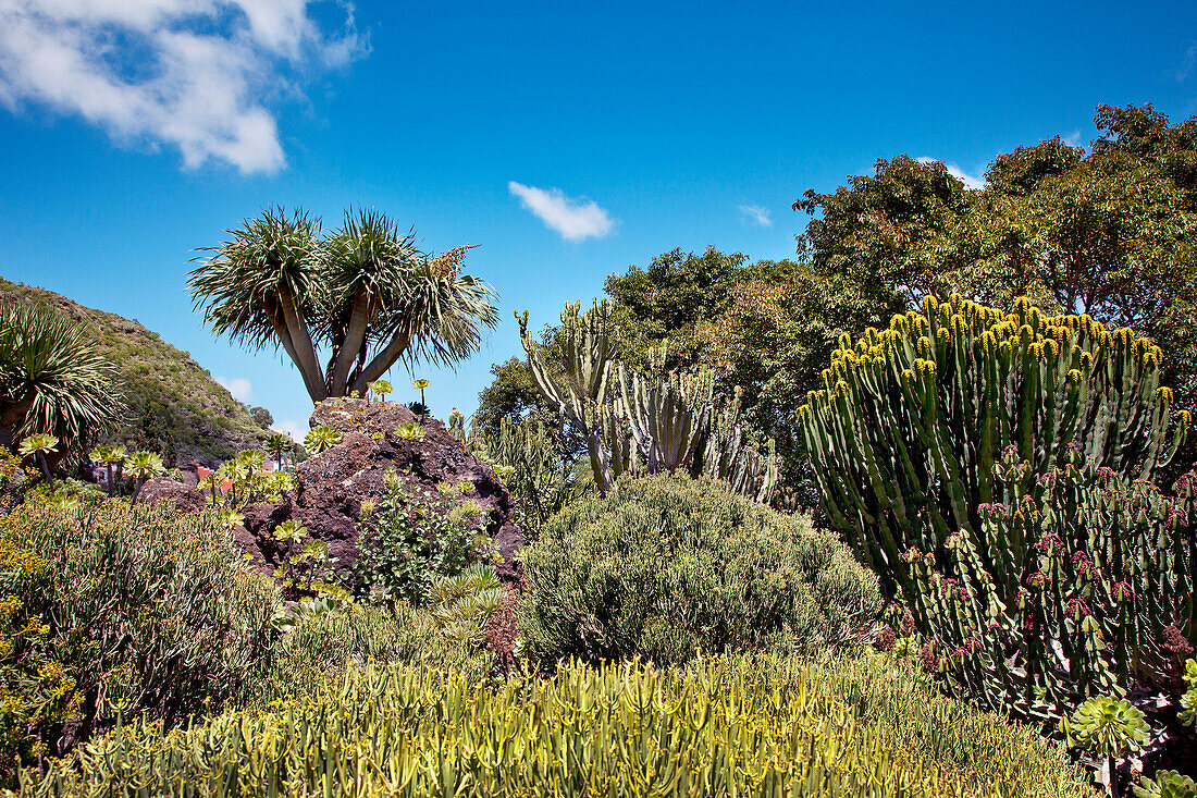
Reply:
<svg viewBox="0 0 1197 798"><path fill-rule="evenodd" d="M360 594L423 606L438 578L494 555L479 512L457 509L464 506L451 498L411 492L394 471L387 473L385 488L373 513L359 522ZM481 510L476 502L474 507Z"/></svg>

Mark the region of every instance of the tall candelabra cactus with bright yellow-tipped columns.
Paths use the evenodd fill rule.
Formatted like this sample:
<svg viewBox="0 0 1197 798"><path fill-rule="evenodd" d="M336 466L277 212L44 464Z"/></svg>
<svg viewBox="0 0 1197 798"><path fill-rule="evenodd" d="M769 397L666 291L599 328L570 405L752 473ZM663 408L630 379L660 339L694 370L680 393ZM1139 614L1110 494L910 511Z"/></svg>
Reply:
<svg viewBox="0 0 1197 798"><path fill-rule="evenodd" d="M1037 474L1075 443L1094 467L1150 479L1189 425L1184 411L1173 423L1155 345L1026 298L1004 314L926 297L844 335L800 417L824 510L891 592L901 552L942 562L952 534L979 531L979 507L1009 503L991 478L1007 447Z"/></svg>

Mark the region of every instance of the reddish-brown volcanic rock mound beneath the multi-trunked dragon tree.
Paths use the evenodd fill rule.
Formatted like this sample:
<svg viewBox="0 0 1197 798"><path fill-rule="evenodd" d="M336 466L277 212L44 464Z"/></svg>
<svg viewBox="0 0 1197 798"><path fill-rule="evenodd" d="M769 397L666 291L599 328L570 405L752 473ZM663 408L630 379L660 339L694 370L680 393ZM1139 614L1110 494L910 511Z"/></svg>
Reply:
<svg viewBox="0 0 1197 798"><path fill-rule="evenodd" d="M395 435L400 424L419 421L423 440ZM486 508L486 532L503 562L499 575L518 581L516 550L523 533L511 518L511 495L485 463L472 455L452 437L444 424L432 418L417 419L397 403L365 399L327 399L316 406L311 427L332 427L345 440L299 464L299 486L277 504L254 504L243 510L244 528L238 539L261 567L278 564L278 550L267 537L279 524L296 520L309 534L329 545L334 570L348 575L358 557L358 520L363 502L377 502L384 495L383 476L394 468L407 490L436 495L440 482L470 482L474 488L458 501L473 498Z"/></svg>

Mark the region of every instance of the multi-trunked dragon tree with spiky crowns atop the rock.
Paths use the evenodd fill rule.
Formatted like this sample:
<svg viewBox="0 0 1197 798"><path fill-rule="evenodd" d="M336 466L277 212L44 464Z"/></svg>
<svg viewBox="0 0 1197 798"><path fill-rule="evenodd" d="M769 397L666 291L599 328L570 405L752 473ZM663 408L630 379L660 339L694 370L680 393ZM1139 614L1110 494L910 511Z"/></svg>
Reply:
<svg viewBox="0 0 1197 798"><path fill-rule="evenodd" d="M364 394L401 358L456 363L498 321L494 291L460 273L469 247L433 258L375 210L347 212L328 235L281 208L227 232L190 273L196 307L218 335L282 346L312 401Z"/></svg>

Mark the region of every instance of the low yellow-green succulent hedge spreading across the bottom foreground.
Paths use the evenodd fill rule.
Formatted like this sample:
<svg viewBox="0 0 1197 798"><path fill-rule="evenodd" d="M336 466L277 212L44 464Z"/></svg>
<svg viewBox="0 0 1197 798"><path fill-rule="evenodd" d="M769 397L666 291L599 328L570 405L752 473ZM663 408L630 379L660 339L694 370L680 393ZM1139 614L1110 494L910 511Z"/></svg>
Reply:
<svg viewBox="0 0 1197 798"><path fill-rule="evenodd" d="M563 666L476 684L354 669L303 702L164 733L134 723L34 796L1092 796L1061 749L937 699L889 660L657 671Z"/></svg>

